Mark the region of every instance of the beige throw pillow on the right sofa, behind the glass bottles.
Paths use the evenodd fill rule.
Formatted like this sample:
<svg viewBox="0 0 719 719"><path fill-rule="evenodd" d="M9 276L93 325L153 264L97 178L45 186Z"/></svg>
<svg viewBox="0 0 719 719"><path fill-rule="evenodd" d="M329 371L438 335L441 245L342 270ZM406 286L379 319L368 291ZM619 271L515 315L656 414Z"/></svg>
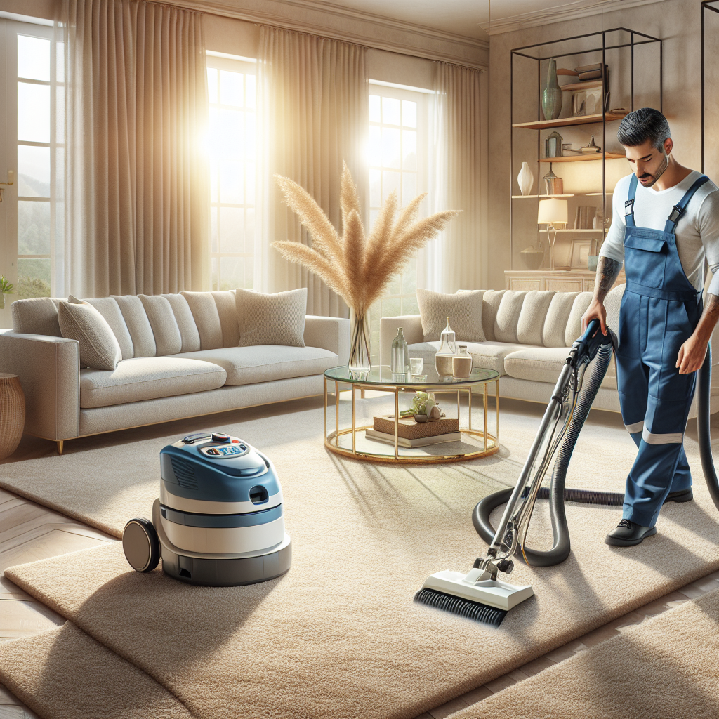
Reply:
<svg viewBox="0 0 719 719"><path fill-rule="evenodd" d="M482 329L482 295L485 290L462 290L445 295L431 290L417 290L425 342L438 342L439 333L449 326L462 342L485 342Z"/></svg>

